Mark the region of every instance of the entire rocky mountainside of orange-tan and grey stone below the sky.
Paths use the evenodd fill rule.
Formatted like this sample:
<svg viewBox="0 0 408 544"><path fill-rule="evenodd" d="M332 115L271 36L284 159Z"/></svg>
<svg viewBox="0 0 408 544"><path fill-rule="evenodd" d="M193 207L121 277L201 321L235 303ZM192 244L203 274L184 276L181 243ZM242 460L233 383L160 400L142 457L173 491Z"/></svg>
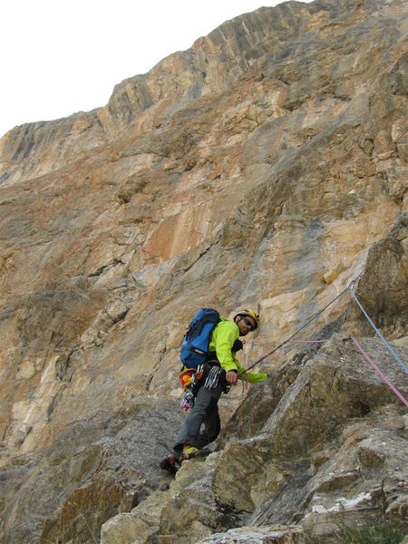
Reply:
<svg viewBox="0 0 408 544"><path fill-rule="evenodd" d="M0 141L2 541L289 543L406 518L406 409L350 337L405 398L407 374L346 287L408 364L407 12L260 8ZM316 318L170 481L180 339L198 307L242 305L262 316L244 364Z"/></svg>

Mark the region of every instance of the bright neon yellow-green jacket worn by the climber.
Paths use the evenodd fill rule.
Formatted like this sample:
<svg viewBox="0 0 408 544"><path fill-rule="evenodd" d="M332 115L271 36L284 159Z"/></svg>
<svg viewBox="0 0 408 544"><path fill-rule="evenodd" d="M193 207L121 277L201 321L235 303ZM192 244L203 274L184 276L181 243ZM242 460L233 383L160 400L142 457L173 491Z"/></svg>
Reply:
<svg viewBox="0 0 408 544"><path fill-rule="evenodd" d="M239 364L235 352L232 351L232 346L238 337L238 325L230 319L221 317L219 325L212 332L209 341L209 351L216 352L219 364L226 372L237 370L238 374L240 374L244 371L244 367ZM257 382L267 380L267 374L258 372L246 372L245 374L240 374L239 377L250 384L257 384Z"/></svg>

